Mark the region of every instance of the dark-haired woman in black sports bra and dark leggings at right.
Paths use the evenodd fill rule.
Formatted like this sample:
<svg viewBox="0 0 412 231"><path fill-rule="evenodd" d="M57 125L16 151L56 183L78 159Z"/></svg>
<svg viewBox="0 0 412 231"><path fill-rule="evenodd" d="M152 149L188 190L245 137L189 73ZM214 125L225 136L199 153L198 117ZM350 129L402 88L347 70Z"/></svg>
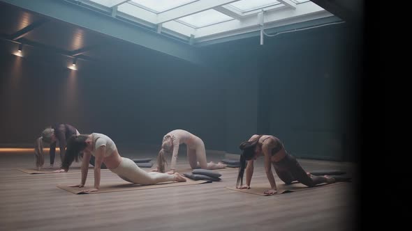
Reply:
<svg viewBox="0 0 412 231"><path fill-rule="evenodd" d="M303 168L297 163L295 157L286 152L283 143L279 138L270 135L253 135L249 141L244 141L240 144L240 168L237 175L237 189L250 189L251 178L253 175L253 161L260 156L265 157L265 171L267 179L270 182L272 189L266 190L264 193L272 195L277 193L276 182L272 174L272 165L279 178L286 184L297 180L298 182L313 187L322 183L334 183L335 179L325 176L315 176L306 173ZM247 166L246 166L247 161ZM243 184L243 173L246 167L246 185Z"/></svg>

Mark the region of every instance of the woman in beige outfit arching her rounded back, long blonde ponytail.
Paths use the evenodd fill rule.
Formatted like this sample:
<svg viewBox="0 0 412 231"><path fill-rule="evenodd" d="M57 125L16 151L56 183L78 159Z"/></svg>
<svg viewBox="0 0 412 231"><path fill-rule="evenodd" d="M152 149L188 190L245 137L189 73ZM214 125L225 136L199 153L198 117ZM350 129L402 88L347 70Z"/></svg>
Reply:
<svg viewBox="0 0 412 231"><path fill-rule="evenodd" d="M207 163L205 144L202 139L191 134L190 132L177 129L163 136L161 150L157 157L157 169L154 171L161 173L165 172L165 164L167 164L167 162L165 160L164 153L172 152L172 161L170 164L170 171L168 173L175 173L177 153L179 152L179 145L181 143L186 144L187 159L189 159L191 168L203 168L210 170L225 168L225 165L220 162L218 164L214 164L212 161Z"/></svg>

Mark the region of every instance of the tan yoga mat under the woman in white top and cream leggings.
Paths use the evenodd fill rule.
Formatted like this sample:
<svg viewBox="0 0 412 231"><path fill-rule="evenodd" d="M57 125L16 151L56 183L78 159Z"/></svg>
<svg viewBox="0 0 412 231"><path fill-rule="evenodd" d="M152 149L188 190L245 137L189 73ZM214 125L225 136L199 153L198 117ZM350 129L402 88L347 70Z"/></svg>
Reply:
<svg viewBox="0 0 412 231"><path fill-rule="evenodd" d="M91 189L92 188L91 186L85 186L83 188L78 188L78 187L69 187L66 185L57 185L57 188L69 191L74 194L94 194L94 193L112 193L112 192L118 192L118 191L157 189L157 188L165 188L165 187L211 183L211 181L207 181L207 180L190 180L187 177L185 178L187 180L186 182L163 182L163 183L153 184L153 185L131 184L128 182L122 182L120 184L107 184L107 185L101 185L98 191L91 192L91 193L82 192L82 190L84 189Z"/></svg>

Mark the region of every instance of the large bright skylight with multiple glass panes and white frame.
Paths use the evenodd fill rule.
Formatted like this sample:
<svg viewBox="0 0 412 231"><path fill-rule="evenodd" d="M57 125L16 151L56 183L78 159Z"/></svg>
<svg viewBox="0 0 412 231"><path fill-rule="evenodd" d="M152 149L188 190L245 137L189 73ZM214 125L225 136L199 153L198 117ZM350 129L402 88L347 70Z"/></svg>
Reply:
<svg viewBox="0 0 412 231"><path fill-rule="evenodd" d="M191 44L252 36L262 28L270 33L280 26L341 21L309 0L82 0L82 4ZM263 26L258 16L262 10Z"/></svg>

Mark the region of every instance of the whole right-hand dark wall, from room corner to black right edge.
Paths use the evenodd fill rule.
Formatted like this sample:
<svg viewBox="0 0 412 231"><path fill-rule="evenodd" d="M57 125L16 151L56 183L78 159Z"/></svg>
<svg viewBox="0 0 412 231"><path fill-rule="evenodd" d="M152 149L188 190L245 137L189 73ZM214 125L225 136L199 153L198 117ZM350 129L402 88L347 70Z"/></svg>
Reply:
<svg viewBox="0 0 412 231"><path fill-rule="evenodd" d="M238 153L252 134L272 134L297 157L355 161L359 35L338 24L266 37L263 46L251 38L205 51L233 86L227 150Z"/></svg>

